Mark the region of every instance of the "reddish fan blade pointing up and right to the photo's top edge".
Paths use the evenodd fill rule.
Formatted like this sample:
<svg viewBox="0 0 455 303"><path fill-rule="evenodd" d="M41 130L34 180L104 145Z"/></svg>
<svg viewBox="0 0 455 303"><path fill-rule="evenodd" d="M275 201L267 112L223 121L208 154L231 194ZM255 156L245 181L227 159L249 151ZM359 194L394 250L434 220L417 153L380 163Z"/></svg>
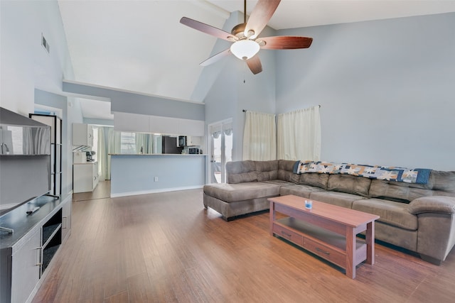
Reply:
<svg viewBox="0 0 455 303"><path fill-rule="evenodd" d="M250 18L248 19L247 26L245 27L245 33L248 31L254 31L255 34L252 38L255 38L262 32L273 13L278 7L281 0L259 0L253 11L251 12Z"/></svg>

